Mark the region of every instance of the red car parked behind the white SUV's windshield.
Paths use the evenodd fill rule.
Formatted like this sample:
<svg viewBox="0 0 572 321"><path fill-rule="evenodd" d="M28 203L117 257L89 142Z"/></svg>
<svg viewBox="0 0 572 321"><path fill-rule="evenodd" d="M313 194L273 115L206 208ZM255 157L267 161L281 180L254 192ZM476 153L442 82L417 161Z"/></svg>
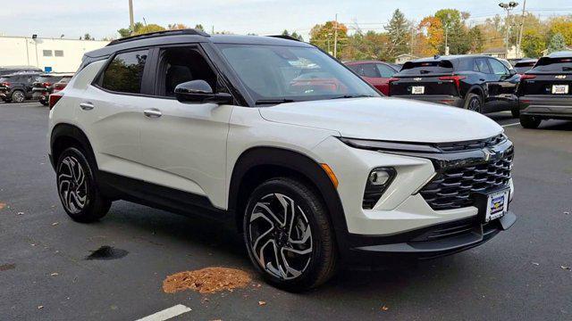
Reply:
<svg viewBox="0 0 572 321"><path fill-rule="evenodd" d="M393 74L400 71L399 66L387 62L345 62L350 70L354 70L361 78L381 91L383 95L389 95L389 80Z"/></svg>

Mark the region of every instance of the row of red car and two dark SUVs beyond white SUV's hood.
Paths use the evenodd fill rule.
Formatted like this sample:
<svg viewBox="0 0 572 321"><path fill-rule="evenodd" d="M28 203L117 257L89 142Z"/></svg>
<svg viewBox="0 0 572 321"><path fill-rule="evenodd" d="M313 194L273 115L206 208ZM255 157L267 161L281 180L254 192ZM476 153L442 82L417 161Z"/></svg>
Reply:
<svg viewBox="0 0 572 321"><path fill-rule="evenodd" d="M402 66L386 62L346 65L384 95L481 113L511 111L525 128L537 128L543 119L572 119L572 52L512 64L485 55L450 55Z"/></svg>

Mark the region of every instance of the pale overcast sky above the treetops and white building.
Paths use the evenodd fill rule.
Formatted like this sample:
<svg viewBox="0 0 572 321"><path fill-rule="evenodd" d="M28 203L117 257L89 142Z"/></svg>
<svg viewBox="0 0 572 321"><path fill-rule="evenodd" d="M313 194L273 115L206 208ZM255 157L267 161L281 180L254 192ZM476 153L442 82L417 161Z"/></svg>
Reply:
<svg viewBox="0 0 572 321"><path fill-rule="evenodd" d="M507 2L508 0L503 0ZM307 40L316 23L333 20L361 29L382 30L399 8L408 19L420 21L442 8L471 13L472 23L494 14L504 14L500 0L133 0L135 21L183 23L190 27L201 23L208 32L272 35L283 29L297 31ZM521 4L517 10L522 10ZM98 39L118 37L116 30L129 26L128 0L19 0L9 1L0 10L0 35L79 38L89 33ZM572 14L571 0L528 0L526 9L543 18L553 14Z"/></svg>

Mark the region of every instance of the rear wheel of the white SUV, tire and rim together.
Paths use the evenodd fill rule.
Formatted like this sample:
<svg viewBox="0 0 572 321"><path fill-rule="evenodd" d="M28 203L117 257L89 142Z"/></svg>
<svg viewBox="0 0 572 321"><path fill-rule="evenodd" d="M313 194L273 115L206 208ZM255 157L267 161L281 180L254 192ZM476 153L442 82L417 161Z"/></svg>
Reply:
<svg viewBox="0 0 572 321"><path fill-rule="evenodd" d="M107 214L111 202L99 192L85 152L75 147L66 149L58 158L55 169L63 210L73 220L90 223Z"/></svg>

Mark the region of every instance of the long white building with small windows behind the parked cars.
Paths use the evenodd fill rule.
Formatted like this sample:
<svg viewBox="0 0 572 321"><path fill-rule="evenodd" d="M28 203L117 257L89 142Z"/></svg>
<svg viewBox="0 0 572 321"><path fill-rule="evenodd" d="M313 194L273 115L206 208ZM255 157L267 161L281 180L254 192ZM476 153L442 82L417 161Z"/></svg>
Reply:
<svg viewBox="0 0 572 321"><path fill-rule="evenodd" d="M0 66L36 66L55 72L75 72L83 53L108 41L0 36Z"/></svg>

